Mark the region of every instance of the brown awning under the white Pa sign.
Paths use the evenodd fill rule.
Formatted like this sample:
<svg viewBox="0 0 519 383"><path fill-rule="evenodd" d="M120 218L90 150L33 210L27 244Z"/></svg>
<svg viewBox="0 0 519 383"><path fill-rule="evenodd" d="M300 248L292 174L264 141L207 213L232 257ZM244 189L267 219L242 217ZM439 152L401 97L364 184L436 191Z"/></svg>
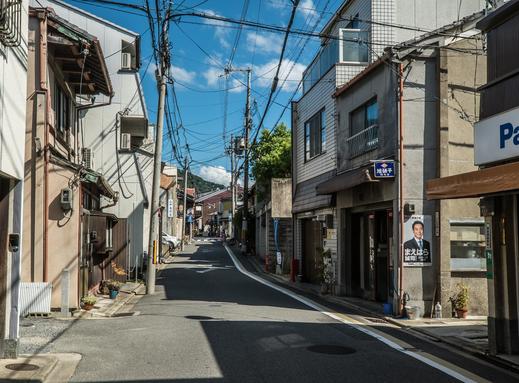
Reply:
<svg viewBox="0 0 519 383"><path fill-rule="evenodd" d="M430 200L480 197L511 190L519 190L519 162L426 182Z"/></svg>

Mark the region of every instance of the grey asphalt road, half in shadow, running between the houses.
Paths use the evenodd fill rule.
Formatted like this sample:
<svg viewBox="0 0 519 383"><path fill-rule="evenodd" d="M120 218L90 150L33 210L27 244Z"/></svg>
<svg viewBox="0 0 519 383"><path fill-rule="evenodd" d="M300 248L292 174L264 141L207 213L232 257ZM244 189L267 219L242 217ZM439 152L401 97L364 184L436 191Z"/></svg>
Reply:
<svg viewBox="0 0 519 383"><path fill-rule="evenodd" d="M71 322L56 337L49 351L83 355L73 381L517 379L393 326L260 283L247 261L236 267L219 242L187 250L158 274L156 294L135 304L140 315Z"/></svg>

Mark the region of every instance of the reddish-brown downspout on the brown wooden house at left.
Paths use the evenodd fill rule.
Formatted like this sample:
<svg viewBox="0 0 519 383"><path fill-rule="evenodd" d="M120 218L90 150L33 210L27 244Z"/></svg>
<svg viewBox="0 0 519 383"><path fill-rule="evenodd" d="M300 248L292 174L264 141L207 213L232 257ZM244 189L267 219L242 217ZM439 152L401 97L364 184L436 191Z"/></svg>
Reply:
<svg viewBox="0 0 519 383"><path fill-rule="evenodd" d="M49 254L49 115L50 98L47 86L47 12L38 13L40 19L40 91L45 93L44 166L43 166L43 282L48 281Z"/></svg>

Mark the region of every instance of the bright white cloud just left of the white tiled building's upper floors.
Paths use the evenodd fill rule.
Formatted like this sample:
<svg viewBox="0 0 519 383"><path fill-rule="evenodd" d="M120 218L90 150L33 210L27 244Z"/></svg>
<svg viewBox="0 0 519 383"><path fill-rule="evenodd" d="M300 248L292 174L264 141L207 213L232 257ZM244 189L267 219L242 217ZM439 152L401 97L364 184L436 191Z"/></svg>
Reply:
<svg viewBox="0 0 519 383"><path fill-rule="evenodd" d="M254 73L256 76L261 77L256 80L255 84L261 87L270 88L274 75L276 74L277 65L278 60L274 59L264 65L256 66L254 68ZM281 69L279 71L278 87L281 87L283 80L288 76L287 81L283 85L283 90L286 92L295 90L305 69L306 66L303 64L296 63L289 59L284 59L281 62Z"/></svg>

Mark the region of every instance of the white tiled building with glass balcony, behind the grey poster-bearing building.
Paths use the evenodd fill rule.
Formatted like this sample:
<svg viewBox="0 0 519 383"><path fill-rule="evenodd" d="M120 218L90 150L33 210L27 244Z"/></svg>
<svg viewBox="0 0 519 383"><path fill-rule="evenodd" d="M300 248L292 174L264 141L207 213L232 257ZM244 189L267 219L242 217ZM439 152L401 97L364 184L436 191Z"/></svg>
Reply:
<svg viewBox="0 0 519 383"><path fill-rule="evenodd" d="M300 261L303 279L317 282L316 258L321 249L330 250L337 285L346 292L344 273L338 272L337 196L316 193L318 185L337 175L336 89L377 61L385 47L484 7L481 0L350 0L322 30L321 48L303 74L303 95L292 103L294 257ZM373 108L366 104L364 114L359 109L357 117L369 120ZM376 127L362 126L355 134L367 140L377 134Z"/></svg>

